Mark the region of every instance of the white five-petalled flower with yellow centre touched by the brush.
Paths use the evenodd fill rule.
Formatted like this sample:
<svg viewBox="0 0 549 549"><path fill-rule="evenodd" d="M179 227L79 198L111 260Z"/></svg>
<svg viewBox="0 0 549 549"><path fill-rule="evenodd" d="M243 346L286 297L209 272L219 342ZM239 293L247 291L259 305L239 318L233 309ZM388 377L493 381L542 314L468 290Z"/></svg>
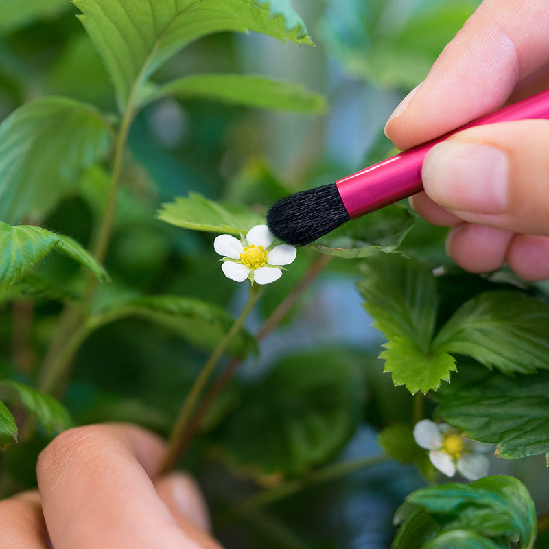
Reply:
<svg viewBox="0 0 549 549"><path fill-rule="evenodd" d="M219 235L213 248L224 256L221 268L235 282L270 284L282 276L282 265L296 258L296 248L289 244L273 244L274 236L266 225L253 226L240 240L231 235Z"/></svg>

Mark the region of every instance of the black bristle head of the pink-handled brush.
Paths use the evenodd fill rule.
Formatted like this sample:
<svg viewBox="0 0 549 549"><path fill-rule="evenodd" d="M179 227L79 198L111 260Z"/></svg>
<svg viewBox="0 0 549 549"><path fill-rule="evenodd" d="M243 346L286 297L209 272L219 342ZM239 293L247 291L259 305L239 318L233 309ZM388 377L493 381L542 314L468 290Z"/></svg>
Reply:
<svg viewBox="0 0 549 549"><path fill-rule="evenodd" d="M282 198L267 213L270 232L292 246L305 246L349 221L336 183Z"/></svg>

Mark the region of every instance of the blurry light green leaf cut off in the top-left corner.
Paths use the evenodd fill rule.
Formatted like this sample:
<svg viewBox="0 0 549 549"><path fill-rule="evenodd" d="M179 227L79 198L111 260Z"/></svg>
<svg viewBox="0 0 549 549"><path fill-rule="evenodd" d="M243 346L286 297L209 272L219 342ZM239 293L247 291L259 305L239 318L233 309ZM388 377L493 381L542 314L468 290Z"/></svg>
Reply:
<svg viewBox="0 0 549 549"><path fill-rule="evenodd" d="M0 2L0 34L14 32L40 19L49 19L67 10L68 0L2 0Z"/></svg>

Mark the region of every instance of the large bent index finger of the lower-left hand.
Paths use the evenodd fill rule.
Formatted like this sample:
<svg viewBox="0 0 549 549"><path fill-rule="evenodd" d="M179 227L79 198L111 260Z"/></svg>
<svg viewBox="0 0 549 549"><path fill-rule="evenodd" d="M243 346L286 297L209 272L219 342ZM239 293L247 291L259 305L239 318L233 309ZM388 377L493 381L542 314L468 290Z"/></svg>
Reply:
<svg viewBox="0 0 549 549"><path fill-rule="evenodd" d="M163 445L130 425L66 431L40 454L38 487L55 549L220 549L189 521L180 528L151 477Z"/></svg>

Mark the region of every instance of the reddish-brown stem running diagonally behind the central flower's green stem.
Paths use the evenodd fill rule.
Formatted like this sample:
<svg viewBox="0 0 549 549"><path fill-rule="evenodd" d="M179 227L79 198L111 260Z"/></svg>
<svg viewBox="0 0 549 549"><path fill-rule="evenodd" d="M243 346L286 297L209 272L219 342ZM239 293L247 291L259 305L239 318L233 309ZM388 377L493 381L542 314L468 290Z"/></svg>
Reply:
<svg viewBox="0 0 549 549"><path fill-rule="evenodd" d="M313 264L309 267L307 272L305 272L299 283L297 283L293 290L285 297L285 299L283 299L283 301L281 301L279 306L274 309L274 312L268 318L263 327L259 330L257 336L255 336L257 342L264 340L264 338L266 338L271 333L271 331L274 330L279 325L279 323L281 323L281 320L283 320L286 314L288 314L292 307L294 307L296 301L299 299L301 294L303 294L303 291L312 283L312 281L314 281L314 279L316 279L318 274L322 272L323 268L325 268L325 266L329 263L331 259L332 257L330 255L320 255L320 257L318 257L318 259L313 262ZM220 373L217 379L215 379L215 382L213 382L211 388L209 388L205 397L198 405L196 412L189 420L185 432L181 434L179 449L180 453L183 453L185 449L187 449L187 446L189 445L193 436L200 429L200 423L202 423L202 419L204 419L210 406L213 404L215 399L217 399L217 397L222 393L222 390L224 390L227 384L231 381L241 362L242 360L240 360L239 358L233 358L233 360L231 360L231 362L226 365L225 369L222 371L222 373Z"/></svg>

